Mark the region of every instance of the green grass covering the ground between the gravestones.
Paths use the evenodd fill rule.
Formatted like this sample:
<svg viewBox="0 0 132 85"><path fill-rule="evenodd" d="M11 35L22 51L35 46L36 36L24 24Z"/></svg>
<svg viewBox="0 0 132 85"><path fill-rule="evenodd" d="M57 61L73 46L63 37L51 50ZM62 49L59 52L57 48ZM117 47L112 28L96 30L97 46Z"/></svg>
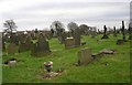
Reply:
<svg viewBox="0 0 132 85"><path fill-rule="evenodd" d="M117 45L117 39L110 35L109 40L99 41L101 35L96 39L82 36L86 45L65 50L64 44L59 44L57 39L50 40L52 54L44 57L34 57L29 52L19 53L18 55L4 55L2 60L16 57L20 62L16 66L2 66L3 83L129 83L130 82L130 42L123 45ZM118 39L121 39L119 36ZM114 49L113 55L105 55L87 66L75 66L77 62L77 52L80 49L92 49L92 53L98 53L102 49ZM4 52L3 52L4 53ZM53 61L53 71L64 68L62 75L52 79L42 79L38 77L43 73L43 62ZM108 65L102 63L108 62Z"/></svg>

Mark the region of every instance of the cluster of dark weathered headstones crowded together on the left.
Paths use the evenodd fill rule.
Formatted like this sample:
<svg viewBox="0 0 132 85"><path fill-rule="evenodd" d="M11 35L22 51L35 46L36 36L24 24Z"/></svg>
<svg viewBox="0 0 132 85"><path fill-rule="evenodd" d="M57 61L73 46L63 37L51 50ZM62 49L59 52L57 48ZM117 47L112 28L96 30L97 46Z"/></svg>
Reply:
<svg viewBox="0 0 132 85"><path fill-rule="evenodd" d="M37 33L33 38L30 33L22 34L12 34L12 39L9 42L9 45L6 47L6 42L3 42L4 50L9 54L15 54L20 52L31 51L31 54L34 56L40 55L40 53L50 53L48 42L43 33ZM3 38L4 39L4 38Z"/></svg>

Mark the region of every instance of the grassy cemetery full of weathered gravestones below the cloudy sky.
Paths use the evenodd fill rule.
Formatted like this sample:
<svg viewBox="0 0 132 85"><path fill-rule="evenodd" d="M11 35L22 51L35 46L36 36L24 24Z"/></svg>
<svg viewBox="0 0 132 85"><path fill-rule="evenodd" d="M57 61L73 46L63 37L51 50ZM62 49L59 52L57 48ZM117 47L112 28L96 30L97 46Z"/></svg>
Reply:
<svg viewBox="0 0 132 85"><path fill-rule="evenodd" d="M7 21L8 22L8 21ZM13 22L12 22L13 23ZM4 23L7 25L7 23ZM14 24L15 25L15 24ZM128 83L131 25L52 23L51 31L2 32L3 83Z"/></svg>

